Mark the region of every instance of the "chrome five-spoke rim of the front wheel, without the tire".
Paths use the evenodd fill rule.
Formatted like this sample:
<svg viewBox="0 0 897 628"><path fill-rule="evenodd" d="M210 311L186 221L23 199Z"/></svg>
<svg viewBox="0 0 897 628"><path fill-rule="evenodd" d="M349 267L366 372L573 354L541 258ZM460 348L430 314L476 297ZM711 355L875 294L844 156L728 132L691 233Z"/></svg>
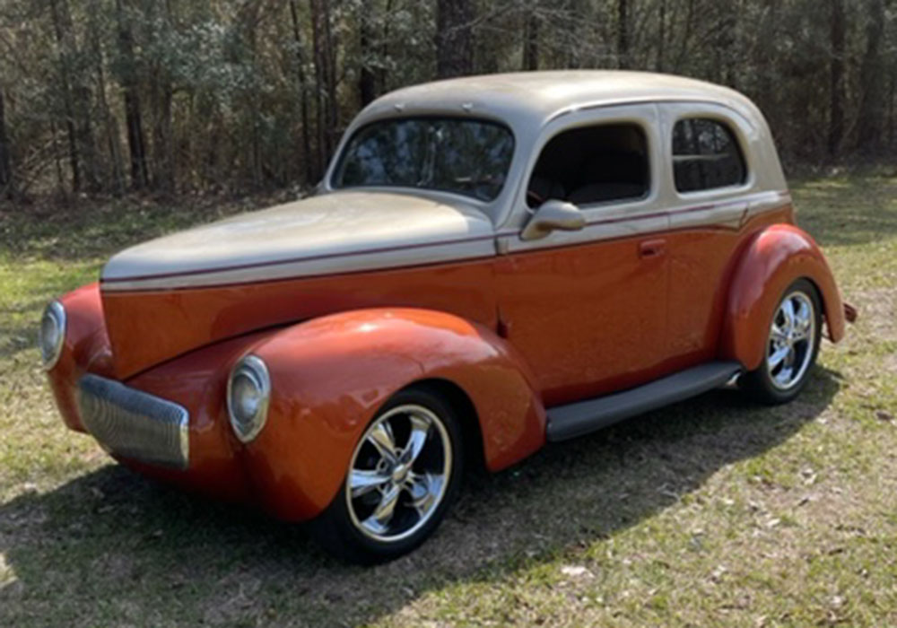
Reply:
<svg viewBox="0 0 897 628"><path fill-rule="evenodd" d="M439 509L451 472L440 416L416 404L389 409L364 432L346 475L353 526L381 542L414 535Z"/></svg>

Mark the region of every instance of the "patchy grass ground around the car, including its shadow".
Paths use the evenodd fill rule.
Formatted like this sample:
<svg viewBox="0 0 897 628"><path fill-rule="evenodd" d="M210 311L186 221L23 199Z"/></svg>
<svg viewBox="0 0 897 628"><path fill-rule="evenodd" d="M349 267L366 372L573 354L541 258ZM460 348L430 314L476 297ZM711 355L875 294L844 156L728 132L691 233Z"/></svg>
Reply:
<svg viewBox="0 0 897 628"><path fill-rule="evenodd" d="M897 626L897 178L794 196L860 310L797 402L720 391L546 448L373 569L110 464L36 366L48 298L239 207L0 214L0 625Z"/></svg>

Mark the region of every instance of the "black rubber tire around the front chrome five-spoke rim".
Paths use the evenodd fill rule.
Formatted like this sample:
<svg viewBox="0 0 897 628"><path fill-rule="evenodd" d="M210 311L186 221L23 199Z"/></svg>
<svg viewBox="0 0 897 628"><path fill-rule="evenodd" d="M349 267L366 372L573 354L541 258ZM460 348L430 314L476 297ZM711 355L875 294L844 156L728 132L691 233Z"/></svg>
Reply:
<svg viewBox="0 0 897 628"><path fill-rule="evenodd" d="M420 407L426 409L442 424L444 431L440 430L435 425L431 426L431 428L428 428L425 440L426 444L422 446L423 449L421 450L420 458L418 458L412 464L406 465L406 472L409 475L414 475L416 471L419 474L418 477L422 477L422 473L426 469L421 469L417 467L417 465L435 464L436 467L444 465L445 458L442 458L440 462L439 455L434 453L437 449L434 444L435 441L432 440L434 438L437 438L440 440L440 442L443 442L445 438L448 437L448 442L450 443L451 448L450 455L448 456L450 460L449 469L448 473L446 474L448 475L448 478L445 481L444 489L440 493L439 502L434 503L431 511L428 510L426 520L423 521L419 527L415 528L416 524L411 525L410 528L405 532L400 532L399 534L397 534L396 536L398 537L396 537L395 540L381 539L372 536L374 533L371 532L370 529L364 528L364 522L360 520L361 517L358 516L358 510L366 506L366 504L359 503L359 501L379 499L381 500L380 504L382 504L382 500L386 499L385 493L381 492L380 487L377 487L375 489L368 490L368 493L365 493L360 497L355 497L352 500L348 499L347 495L349 494L350 471L353 470L353 465L357 464L363 466L363 463L361 462L362 457L367 456L367 458L372 458L370 455L371 449L374 449L377 452L375 456L380 455L379 450L373 448L372 442L367 439L368 434L371 430L376 429L375 426L378 425L379 421L381 419L384 419L384 417L387 417L387 422L391 422L393 420L402 420L404 414L402 413L401 408L408 407ZM397 414L390 414L393 411L395 411ZM408 417L410 430L410 414L408 414ZM461 479L464 475L465 460L461 434L462 432L460 423L457 420L455 411L451 406L449 406L445 399L440 397L440 395L438 395L432 388L419 386L413 388L405 388L405 390L396 393L396 395L391 397L388 402L379 409L378 413L374 416L370 424L365 429L365 432L362 432L361 439L356 444L353 458L350 461L350 467L346 469L346 477L340 487L340 490L336 493L333 502L331 502L330 505L327 506L327 510L324 510L324 512L321 513L321 515L318 516L317 519L314 519L309 523L309 529L312 536L314 536L314 538L318 541L318 544L324 547L324 549L327 550L328 553L333 554L337 558L340 558L348 563L386 563L414 550L414 548L416 548L418 545L421 545L429 536L432 535L436 528L439 527L440 522L445 518L448 509L451 507L452 502L454 502L457 498L457 493L461 485ZM408 434L408 439L409 440L405 448L397 449L412 449L410 441L410 431ZM396 443L400 441L400 435L397 435L395 440ZM432 451L427 450L427 447L431 447ZM431 460L423 460L423 458L426 458L427 456L429 456ZM383 459L385 460L385 458ZM435 460L435 462L433 462L433 460ZM359 469L359 467L355 468ZM395 469L396 467L393 468ZM367 470L367 467L359 470ZM376 470L377 469L371 469L371 471ZM387 471L384 473L384 475L390 475L390 472ZM392 477L392 475L390 475L390 477ZM429 478L427 481L429 482ZM395 482L395 480L390 480L390 482ZM387 485L384 484L384 486ZM388 484L388 487L395 486L396 484ZM405 516L405 519L410 522L412 521L413 515L417 514L417 516L423 519L422 515L420 515L420 512L416 510L416 508L414 508L414 511L412 511L414 500L410 490L407 488L396 490L399 490L399 496L398 498L396 498L397 501L395 506L397 514L394 514L392 517L395 519L399 515L403 515ZM370 494L374 493L375 491L379 493L379 497L378 494ZM385 491L388 492L388 488L386 488ZM405 515L405 510L400 509L406 509L408 511L408 514ZM370 518L373 518L374 513L371 513ZM365 520L370 521L371 519ZM400 529L400 526L396 524L396 528Z"/></svg>

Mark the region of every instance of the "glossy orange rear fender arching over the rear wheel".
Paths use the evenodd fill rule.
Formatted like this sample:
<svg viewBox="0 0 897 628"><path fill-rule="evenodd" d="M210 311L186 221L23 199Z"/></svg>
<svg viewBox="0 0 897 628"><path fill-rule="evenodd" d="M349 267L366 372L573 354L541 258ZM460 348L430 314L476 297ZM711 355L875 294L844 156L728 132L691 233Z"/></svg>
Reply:
<svg viewBox="0 0 897 628"><path fill-rule="evenodd" d="M760 366L769 325L782 293L802 277L823 301L828 336L844 336L844 309L823 252L805 231L775 224L758 233L742 254L729 284L721 357L737 360L748 371Z"/></svg>

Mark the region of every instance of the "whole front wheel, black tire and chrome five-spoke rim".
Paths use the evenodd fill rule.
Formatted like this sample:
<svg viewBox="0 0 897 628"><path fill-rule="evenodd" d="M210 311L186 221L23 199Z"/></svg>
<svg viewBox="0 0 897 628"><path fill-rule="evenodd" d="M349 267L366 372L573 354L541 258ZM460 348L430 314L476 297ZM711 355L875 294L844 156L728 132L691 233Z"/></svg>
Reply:
<svg viewBox="0 0 897 628"><path fill-rule="evenodd" d="M405 389L361 435L343 486L311 529L331 554L352 563L406 554L445 517L463 461L452 408L429 388Z"/></svg>

